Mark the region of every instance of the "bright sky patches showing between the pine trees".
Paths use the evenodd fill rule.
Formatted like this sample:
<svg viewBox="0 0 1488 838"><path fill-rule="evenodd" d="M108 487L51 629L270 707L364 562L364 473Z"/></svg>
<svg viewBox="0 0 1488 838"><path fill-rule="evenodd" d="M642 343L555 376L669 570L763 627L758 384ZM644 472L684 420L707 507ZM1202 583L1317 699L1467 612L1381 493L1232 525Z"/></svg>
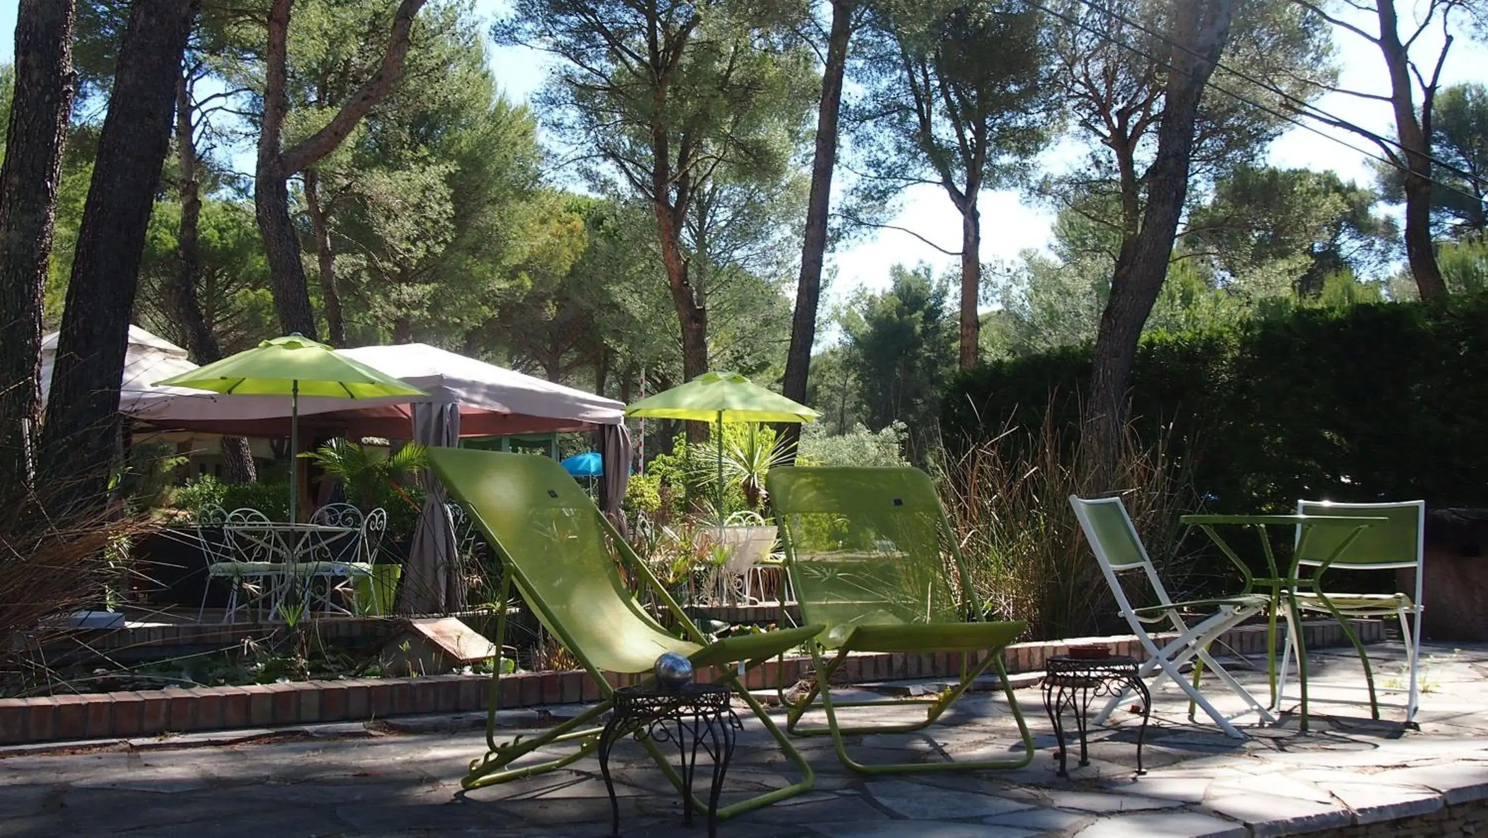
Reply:
<svg viewBox="0 0 1488 838"><path fill-rule="evenodd" d="M15 15L18 0L0 0L0 61L9 61L15 48ZM504 0L476 0L476 12L491 18L506 6ZM1357 36L1338 36L1338 58L1341 64L1341 86L1357 91L1382 92L1388 82L1375 48ZM1423 39L1423 46L1436 45ZM524 48L491 48L491 71L507 97L525 100L548 77L551 61L546 55ZM1488 49L1478 43L1458 39L1452 45L1451 58L1442 74L1445 83L1466 80L1488 82ZM1330 94L1317 106L1342 119L1353 121L1370 129L1388 132L1390 110L1385 103ZM1367 158L1348 146L1367 147L1364 141L1333 128L1318 127L1320 137L1303 129L1283 134L1269 149L1269 162L1280 167L1305 167L1336 171L1345 180L1369 182L1373 174ZM1341 144L1339 141L1342 140ZM1070 149L1061 149L1068 159ZM1372 149L1370 149L1372 150ZM1049 241L1049 226L1054 214L1013 192L995 192L982 198L982 260L1013 259L1024 249L1039 249ZM914 229L920 235L948 250L960 247L960 216L951 207L942 191L933 186L918 186L908 191L900 204L899 226ZM841 299L857 287L881 287L887 283L887 268L894 262L929 262L937 269L949 269L957 260L920 243L914 237L879 231L865 237L832 256L836 280L830 296Z"/></svg>

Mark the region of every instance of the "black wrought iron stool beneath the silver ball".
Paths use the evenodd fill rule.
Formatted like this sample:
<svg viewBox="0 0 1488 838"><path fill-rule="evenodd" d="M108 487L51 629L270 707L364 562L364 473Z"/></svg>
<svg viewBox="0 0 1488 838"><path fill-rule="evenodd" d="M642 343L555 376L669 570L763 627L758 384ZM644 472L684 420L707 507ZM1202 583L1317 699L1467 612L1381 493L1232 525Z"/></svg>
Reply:
<svg viewBox="0 0 1488 838"><path fill-rule="evenodd" d="M674 743L682 768L682 822L692 823L692 774L698 765L698 746L713 758L713 787L708 793L708 838L719 829L719 792L734 756L734 737L744 723L729 704L729 688L717 683L689 683L679 691L655 685L623 686L615 691L615 710L600 732L600 773L610 793L610 832L620 834L620 802L610 780L610 749L625 735L655 743Z"/></svg>

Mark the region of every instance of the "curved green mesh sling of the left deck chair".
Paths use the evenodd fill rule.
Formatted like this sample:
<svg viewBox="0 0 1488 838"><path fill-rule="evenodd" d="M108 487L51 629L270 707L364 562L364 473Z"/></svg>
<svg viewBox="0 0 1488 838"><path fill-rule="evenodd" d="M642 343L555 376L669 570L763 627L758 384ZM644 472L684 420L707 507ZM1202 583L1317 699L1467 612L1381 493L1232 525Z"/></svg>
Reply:
<svg viewBox="0 0 1488 838"><path fill-rule="evenodd" d="M430 448L429 464L470 512L548 631L600 670L641 673L698 645L668 634L620 580L600 511L555 460Z"/></svg>

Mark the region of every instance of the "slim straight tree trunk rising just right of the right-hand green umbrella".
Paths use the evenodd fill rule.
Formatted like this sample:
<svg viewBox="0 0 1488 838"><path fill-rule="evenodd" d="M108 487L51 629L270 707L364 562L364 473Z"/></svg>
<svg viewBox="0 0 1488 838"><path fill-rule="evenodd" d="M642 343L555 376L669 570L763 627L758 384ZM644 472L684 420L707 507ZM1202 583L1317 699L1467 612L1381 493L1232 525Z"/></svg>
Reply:
<svg viewBox="0 0 1488 838"><path fill-rule="evenodd" d="M806 235L801 246L801 275L796 278L796 310L790 317L790 348L786 351L784 393L805 403L811 374L811 347L817 338L817 308L821 302L821 266L827 250L827 219L832 214L832 173L836 170L838 116L842 110L842 76L853 36L854 0L832 0L832 30L827 61L821 73L821 103L817 106L817 146L811 159L811 193L806 198ZM796 460L801 426L786 423L777 433Z"/></svg>

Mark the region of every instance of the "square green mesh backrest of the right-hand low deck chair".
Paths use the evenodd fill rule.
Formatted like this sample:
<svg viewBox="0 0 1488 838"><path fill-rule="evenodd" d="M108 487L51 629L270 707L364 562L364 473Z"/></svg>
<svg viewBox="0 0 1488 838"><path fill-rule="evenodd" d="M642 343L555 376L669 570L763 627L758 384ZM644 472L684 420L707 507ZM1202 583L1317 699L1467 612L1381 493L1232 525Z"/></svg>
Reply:
<svg viewBox="0 0 1488 838"><path fill-rule="evenodd" d="M839 646L853 627L961 622L966 576L918 469L772 469L771 508L805 622Z"/></svg>

